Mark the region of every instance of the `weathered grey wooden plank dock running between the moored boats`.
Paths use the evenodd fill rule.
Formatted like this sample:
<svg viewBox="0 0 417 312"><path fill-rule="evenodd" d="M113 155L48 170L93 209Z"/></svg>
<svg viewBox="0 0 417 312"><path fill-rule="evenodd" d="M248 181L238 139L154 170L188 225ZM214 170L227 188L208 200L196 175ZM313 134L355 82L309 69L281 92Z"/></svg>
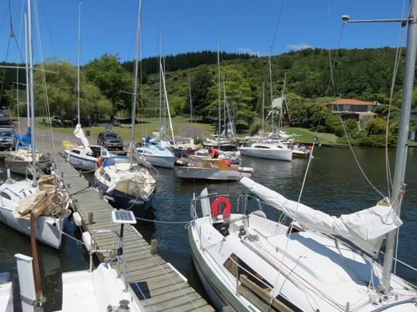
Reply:
<svg viewBox="0 0 417 312"><path fill-rule="evenodd" d="M80 175L64 158L57 156L54 163L56 171L64 177L69 190L73 210L82 217L82 228L89 231L114 230L120 232L120 225L112 223L112 206L100 193L91 187L89 182ZM89 224L89 214L93 213L93 222ZM94 236L96 247L100 250L116 248L118 238L112 234ZM126 274L131 292L141 301L147 311L214 311L197 291L190 287L184 276L173 266L166 263L159 255L152 254L148 242L130 225L125 225L123 235L123 255L129 270ZM106 261L103 254L97 255L100 261ZM143 291L137 290L135 281Z"/></svg>

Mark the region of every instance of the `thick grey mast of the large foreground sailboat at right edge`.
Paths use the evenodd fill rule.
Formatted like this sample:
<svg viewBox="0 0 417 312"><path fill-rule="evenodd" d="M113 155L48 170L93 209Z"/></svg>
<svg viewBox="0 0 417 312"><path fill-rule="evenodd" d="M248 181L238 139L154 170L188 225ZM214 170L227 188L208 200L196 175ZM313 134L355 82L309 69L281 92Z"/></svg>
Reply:
<svg viewBox="0 0 417 312"><path fill-rule="evenodd" d="M400 215L402 196L405 192L404 176L407 163L408 133L411 113L411 100L413 97L414 70L416 68L416 48L417 48L417 1L410 1L411 7L408 19L407 51L405 53L405 75L404 86L402 88L402 102L400 115L400 129L398 130L398 143L396 152L396 165L394 169L393 190L391 203L393 210ZM397 230L393 230L387 235L387 245L385 248L384 268L382 271L382 291L389 293L389 282L393 266L393 257L396 249Z"/></svg>

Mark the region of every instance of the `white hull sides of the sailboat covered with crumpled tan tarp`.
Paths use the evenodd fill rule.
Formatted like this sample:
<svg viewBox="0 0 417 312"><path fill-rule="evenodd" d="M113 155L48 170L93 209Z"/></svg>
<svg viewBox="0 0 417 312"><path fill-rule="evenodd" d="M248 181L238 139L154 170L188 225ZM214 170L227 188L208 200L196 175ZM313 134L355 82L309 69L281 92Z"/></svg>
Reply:
<svg viewBox="0 0 417 312"><path fill-rule="evenodd" d="M30 221L16 218L12 210L0 206L0 221L24 235L30 236ZM60 248L64 219L53 217L38 217L35 220L36 239L53 248Z"/></svg>

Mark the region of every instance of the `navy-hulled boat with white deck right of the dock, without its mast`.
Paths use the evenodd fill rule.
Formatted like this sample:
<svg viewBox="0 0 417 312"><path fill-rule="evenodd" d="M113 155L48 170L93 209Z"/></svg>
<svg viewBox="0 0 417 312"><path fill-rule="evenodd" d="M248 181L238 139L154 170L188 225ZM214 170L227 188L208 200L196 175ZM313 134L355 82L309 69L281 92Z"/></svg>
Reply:
<svg viewBox="0 0 417 312"><path fill-rule="evenodd" d="M105 158L94 177L105 199L115 208L144 214L154 196L159 173L141 157L132 157Z"/></svg>

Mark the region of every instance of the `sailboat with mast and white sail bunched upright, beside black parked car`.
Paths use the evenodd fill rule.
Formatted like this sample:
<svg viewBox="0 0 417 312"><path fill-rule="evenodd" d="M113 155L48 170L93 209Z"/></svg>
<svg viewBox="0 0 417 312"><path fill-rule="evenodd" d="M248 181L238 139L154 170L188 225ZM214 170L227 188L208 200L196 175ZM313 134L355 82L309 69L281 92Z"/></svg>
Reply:
<svg viewBox="0 0 417 312"><path fill-rule="evenodd" d="M65 148L66 159L73 165L73 167L92 171L96 169L98 158L105 158L112 156L109 151L99 145L90 145L82 130L80 122L80 17L81 17L81 2L78 6L78 62L77 62L77 109L78 109L78 123L74 129L74 136L80 139L81 145L77 147Z"/></svg>

